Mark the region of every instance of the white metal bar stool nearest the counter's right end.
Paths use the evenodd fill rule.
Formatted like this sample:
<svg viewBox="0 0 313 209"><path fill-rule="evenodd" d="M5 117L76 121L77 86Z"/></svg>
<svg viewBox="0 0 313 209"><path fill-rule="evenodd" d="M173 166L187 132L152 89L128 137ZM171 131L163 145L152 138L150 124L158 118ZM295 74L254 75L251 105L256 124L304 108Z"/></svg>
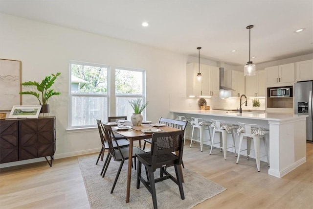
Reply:
<svg viewBox="0 0 313 209"><path fill-rule="evenodd" d="M254 145L254 152L255 152L255 160L256 160L256 167L258 171L260 172L260 139L263 140L264 146L265 146L265 152L268 159L268 165L269 165L269 158L268 158L268 146L266 143L266 137L265 134L269 134L268 128L260 128L257 124L247 124L247 123L238 123L239 128L237 130L237 133L240 133L240 141L239 141L239 152L236 164L238 164L239 157L242 151L246 150L246 157L247 160L249 160L250 156L250 149L251 149L251 139L253 139L253 145ZM246 149L241 150L241 146L243 143L243 138L246 138ZM242 154L245 155L245 154ZM263 156L264 157L264 156Z"/></svg>

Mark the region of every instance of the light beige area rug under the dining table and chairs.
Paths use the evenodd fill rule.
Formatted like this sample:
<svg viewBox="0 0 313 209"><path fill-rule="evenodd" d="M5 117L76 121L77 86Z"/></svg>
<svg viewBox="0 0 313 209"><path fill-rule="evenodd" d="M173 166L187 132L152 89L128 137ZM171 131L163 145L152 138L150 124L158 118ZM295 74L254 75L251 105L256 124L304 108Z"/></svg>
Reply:
<svg viewBox="0 0 313 209"><path fill-rule="evenodd" d="M125 162L116 183L114 191L110 194L116 172L120 162L111 161L104 178L100 176L103 161L96 165L97 155L78 157L79 166L83 175L89 204L91 209L152 209L152 197L145 186L140 184L136 188L136 170L133 168L130 202L126 203L126 182L128 162ZM217 194L226 188L220 186L203 176L184 168L183 190L185 199L181 200L179 187L171 180L156 183L156 199L159 209L190 209L199 203ZM143 169L144 171L144 169ZM168 171L175 176L174 168ZM159 174L156 170L155 176ZM145 174L143 174L145 176Z"/></svg>

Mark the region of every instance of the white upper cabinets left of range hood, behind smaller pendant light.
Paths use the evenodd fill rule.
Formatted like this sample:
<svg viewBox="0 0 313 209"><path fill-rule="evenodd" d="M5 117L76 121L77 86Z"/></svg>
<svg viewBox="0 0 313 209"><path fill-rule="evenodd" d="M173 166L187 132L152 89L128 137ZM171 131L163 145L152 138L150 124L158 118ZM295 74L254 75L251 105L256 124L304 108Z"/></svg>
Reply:
<svg viewBox="0 0 313 209"><path fill-rule="evenodd" d="M220 71L218 67L200 64L201 81L197 79L198 63L187 64L187 96L219 96Z"/></svg>

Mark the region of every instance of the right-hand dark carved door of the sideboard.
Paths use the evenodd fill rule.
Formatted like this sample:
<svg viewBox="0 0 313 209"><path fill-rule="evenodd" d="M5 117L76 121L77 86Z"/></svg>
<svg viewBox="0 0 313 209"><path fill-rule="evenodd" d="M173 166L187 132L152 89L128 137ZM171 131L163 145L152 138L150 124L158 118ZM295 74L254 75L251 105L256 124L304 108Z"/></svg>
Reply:
<svg viewBox="0 0 313 209"><path fill-rule="evenodd" d="M54 155L55 118L19 121L19 160Z"/></svg>

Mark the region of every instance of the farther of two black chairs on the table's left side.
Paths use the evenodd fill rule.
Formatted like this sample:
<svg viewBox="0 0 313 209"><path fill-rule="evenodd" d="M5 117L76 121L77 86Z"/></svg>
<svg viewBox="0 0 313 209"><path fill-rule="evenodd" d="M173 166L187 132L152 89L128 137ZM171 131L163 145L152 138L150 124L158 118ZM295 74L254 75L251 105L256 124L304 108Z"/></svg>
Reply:
<svg viewBox="0 0 313 209"><path fill-rule="evenodd" d="M97 126L98 126L98 130L99 130L100 140L101 140L101 144L102 144L102 147L101 147L101 150L99 152L99 156L98 156L98 159L97 159L97 162L96 162L96 164L98 164L100 156L101 155L103 156L104 151L106 149L109 149L109 144L108 144L108 141L106 140L106 138L104 136L104 127L103 127L103 124L102 124L101 120L99 120L99 119L96 119L96 120L97 120ZM116 141L112 142L114 147L117 147L116 142L118 142L118 145L120 147L127 147L127 146L129 146L129 141L126 140L126 139L116 139ZM107 154L107 158L105 160L105 163L104 163L103 167L105 167L106 163L108 162L108 159L109 159L109 152ZM102 168L102 171L101 171L100 175L102 175L102 173L103 173L103 168Z"/></svg>

